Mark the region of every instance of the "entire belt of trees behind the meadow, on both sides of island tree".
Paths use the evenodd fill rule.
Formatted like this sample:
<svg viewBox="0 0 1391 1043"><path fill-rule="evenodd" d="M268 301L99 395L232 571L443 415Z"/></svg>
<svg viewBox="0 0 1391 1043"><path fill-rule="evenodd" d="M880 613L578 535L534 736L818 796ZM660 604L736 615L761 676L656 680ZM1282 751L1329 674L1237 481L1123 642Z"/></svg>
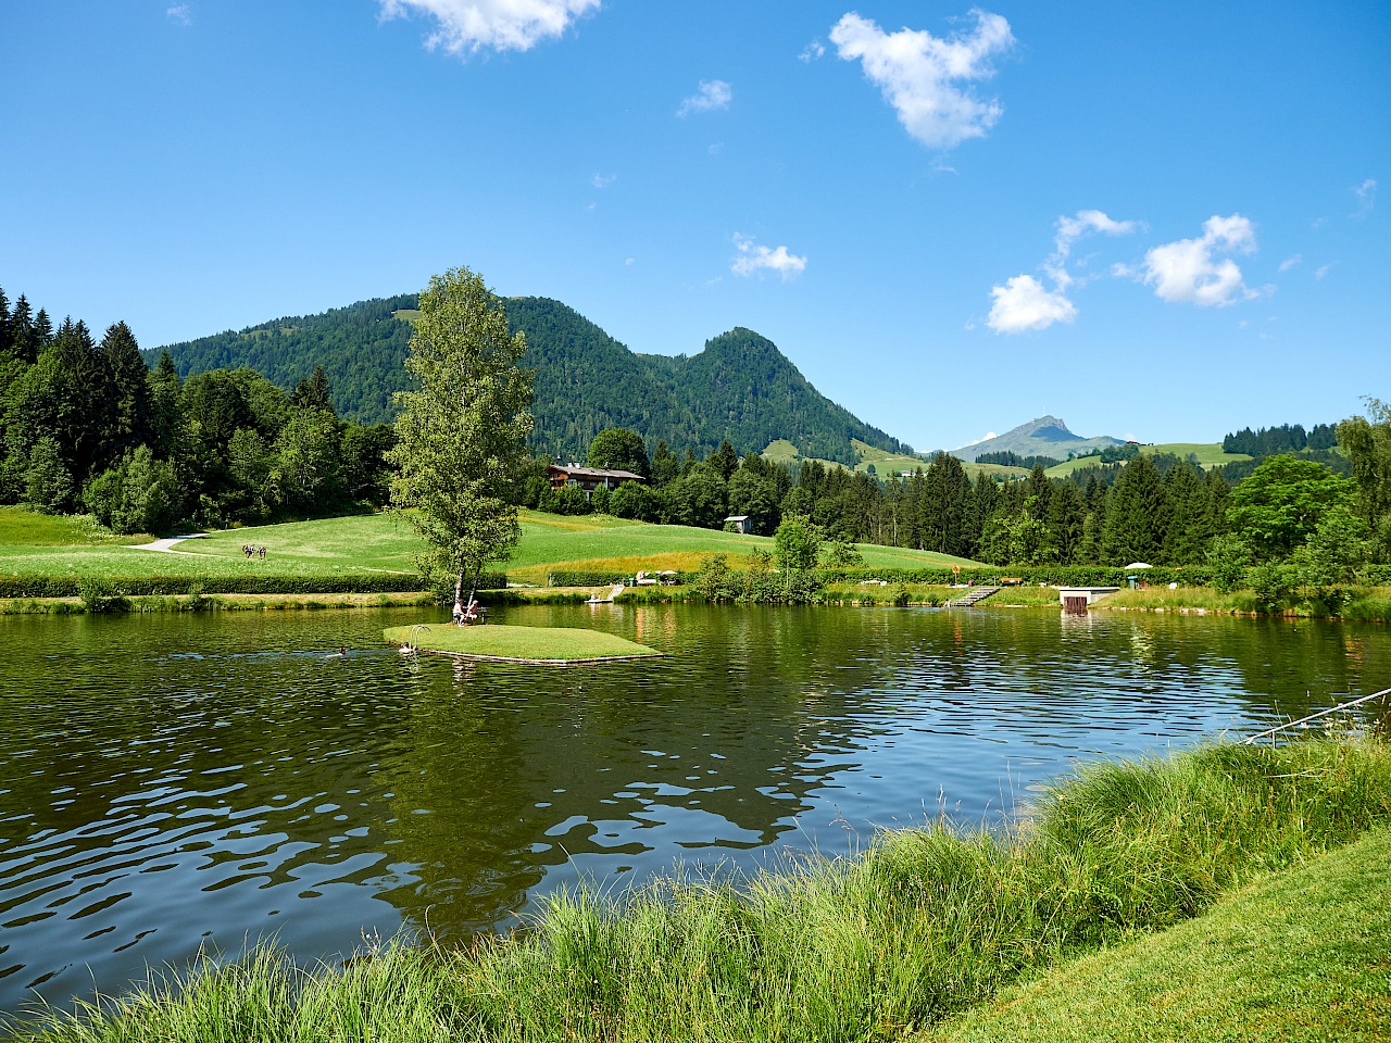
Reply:
<svg viewBox="0 0 1391 1043"><path fill-rule="evenodd" d="M510 496L559 513L707 528L747 516L751 531L766 535L785 519L805 519L833 544L992 565L1302 562L1313 574L1319 562L1320 574L1346 576L1391 553L1391 414L1367 402L1367 417L1335 428L1337 452L1310 448L1327 441L1320 426L1317 439L1303 437L1302 456L1252 462L1235 484L1225 469L1205 473L1192 460L1145 453L1066 478L1046 476L1039 460L1027 478L1006 481L972 480L942 453L907 478L883 480L815 460L740 456L727 439L704 455L658 439L650 453L641 434L611 427L591 439L587 462L645 483L586 499L577 487L554 491L551 458L533 455ZM380 506L394 473L394 430L341 420L321 367L289 394L245 367L185 380L168 353L150 370L124 323L96 339L81 321L54 327L22 296L11 306L3 291L0 426L0 501L86 510L128 533ZM1302 431L1270 430L1295 441ZM1335 456L1337 467L1312 453Z"/></svg>

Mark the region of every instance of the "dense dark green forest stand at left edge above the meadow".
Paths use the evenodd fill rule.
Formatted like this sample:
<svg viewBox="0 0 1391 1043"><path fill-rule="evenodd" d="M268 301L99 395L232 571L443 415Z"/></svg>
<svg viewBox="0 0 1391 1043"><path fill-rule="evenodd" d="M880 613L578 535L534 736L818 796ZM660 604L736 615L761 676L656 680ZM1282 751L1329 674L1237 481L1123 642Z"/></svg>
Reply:
<svg viewBox="0 0 1391 1043"><path fill-rule="evenodd" d="M115 323L56 328L0 289L0 502L120 533L342 513L387 498L389 427L344 423L323 370L285 394L249 369L153 370Z"/></svg>

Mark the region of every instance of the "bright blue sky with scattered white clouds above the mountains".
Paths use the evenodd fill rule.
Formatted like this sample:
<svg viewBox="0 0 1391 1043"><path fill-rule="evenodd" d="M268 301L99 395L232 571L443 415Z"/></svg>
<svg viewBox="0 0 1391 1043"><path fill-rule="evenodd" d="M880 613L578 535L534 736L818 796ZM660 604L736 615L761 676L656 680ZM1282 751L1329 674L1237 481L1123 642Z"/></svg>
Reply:
<svg viewBox="0 0 1391 1043"><path fill-rule="evenodd" d="M1391 398L1384 0L4 0L0 39L0 286L143 346L466 264L634 350L757 330L922 449Z"/></svg>

